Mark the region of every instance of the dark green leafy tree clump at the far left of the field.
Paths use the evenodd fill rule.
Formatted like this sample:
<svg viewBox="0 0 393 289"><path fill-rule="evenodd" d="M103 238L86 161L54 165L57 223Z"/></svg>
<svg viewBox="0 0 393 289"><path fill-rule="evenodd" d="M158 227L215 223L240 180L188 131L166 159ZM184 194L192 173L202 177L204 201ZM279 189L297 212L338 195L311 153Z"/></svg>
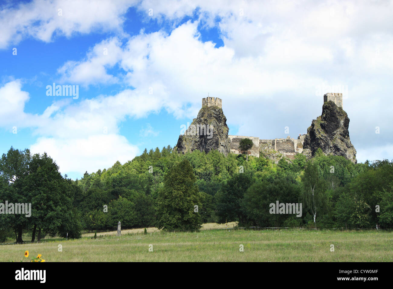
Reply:
<svg viewBox="0 0 393 289"><path fill-rule="evenodd" d="M46 153L30 155L29 150L11 149L0 161L0 175L8 182L7 195L2 198L12 203L31 204L31 215L15 214L9 218L22 243L23 230L31 230L31 241L41 232L55 236L61 226L68 224L78 232L78 219L73 212L74 191L70 180L65 180L57 164Z"/></svg>

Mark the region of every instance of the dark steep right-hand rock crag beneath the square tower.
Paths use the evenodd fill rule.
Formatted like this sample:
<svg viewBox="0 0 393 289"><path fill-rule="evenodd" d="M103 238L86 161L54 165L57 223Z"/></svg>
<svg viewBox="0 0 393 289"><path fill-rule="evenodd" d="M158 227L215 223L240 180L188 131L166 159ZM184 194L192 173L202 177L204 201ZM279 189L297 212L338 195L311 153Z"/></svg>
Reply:
<svg viewBox="0 0 393 289"><path fill-rule="evenodd" d="M334 101L326 101L322 115L313 120L307 129L303 154L310 158L320 147L325 154L343 156L356 164L356 149L349 139L348 126L349 118L342 107Z"/></svg>

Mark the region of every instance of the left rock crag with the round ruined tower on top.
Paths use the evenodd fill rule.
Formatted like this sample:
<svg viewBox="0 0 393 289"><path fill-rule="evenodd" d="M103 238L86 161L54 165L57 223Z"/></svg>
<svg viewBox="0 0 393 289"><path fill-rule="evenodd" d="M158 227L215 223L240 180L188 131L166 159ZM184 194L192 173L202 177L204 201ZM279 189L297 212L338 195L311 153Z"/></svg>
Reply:
<svg viewBox="0 0 393 289"><path fill-rule="evenodd" d="M224 155L230 151L228 125L221 107L221 99L202 99L202 108L183 135L179 136L177 151L179 153L192 152L195 149L208 153L218 150Z"/></svg>

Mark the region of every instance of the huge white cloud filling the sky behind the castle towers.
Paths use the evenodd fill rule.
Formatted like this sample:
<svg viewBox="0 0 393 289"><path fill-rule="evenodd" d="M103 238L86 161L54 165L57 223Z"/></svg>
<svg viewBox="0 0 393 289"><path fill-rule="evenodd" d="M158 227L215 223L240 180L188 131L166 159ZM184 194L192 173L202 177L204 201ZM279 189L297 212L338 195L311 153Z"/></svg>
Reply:
<svg viewBox="0 0 393 289"><path fill-rule="evenodd" d="M198 21L170 35L141 31L127 44L117 44L122 49L119 65L126 73L123 81L139 91L153 88L175 117L195 117L200 98L209 93L223 99L228 123L238 125L238 133L283 137L281 127L290 123L296 137L320 115L322 95L316 95L317 88L339 86L348 88L347 96L343 91L344 108L355 147L371 145L362 141L369 123L389 123L393 31L386 27L391 4L176 3L143 1L139 7L152 8L159 20L178 20L199 6L198 21L218 25L224 46L202 43ZM219 24L212 20L216 16ZM185 108L189 102L193 106ZM382 141L392 142L392 133L389 128Z"/></svg>

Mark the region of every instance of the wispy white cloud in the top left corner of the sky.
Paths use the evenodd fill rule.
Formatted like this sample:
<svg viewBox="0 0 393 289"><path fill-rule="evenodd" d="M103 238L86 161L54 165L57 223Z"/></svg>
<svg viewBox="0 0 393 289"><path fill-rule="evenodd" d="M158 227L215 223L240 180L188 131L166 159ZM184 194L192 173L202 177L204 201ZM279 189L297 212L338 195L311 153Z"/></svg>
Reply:
<svg viewBox="0 0 393 289"><path fill-rule="evenodd" d="M16 45L27 37L52 41L53 35L71 37L74 33L118 31L123 15L136 0L34 0L0 11L0 48ZM59 9L61 9L59 11ZM61 13L61 15L59 15Z"/></svg>

